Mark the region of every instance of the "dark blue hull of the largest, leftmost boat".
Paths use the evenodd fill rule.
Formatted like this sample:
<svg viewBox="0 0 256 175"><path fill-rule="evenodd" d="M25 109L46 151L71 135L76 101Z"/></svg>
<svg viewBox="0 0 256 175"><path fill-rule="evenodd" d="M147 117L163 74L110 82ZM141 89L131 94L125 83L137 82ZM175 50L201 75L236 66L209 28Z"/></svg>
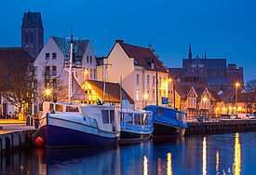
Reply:
<svg viewBox="0 0 256 175"><path fill-rule="evenodd" d="M118 142L118 138L105 138L71 128L51 125L41 127L40 131L48 148L98 146Z"/></svg>

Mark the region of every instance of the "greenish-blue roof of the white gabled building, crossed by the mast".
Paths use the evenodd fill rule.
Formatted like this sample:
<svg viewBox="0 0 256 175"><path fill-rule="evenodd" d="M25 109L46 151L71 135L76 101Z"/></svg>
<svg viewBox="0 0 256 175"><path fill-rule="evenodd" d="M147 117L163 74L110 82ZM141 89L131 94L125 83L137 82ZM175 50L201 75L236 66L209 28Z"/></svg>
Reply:
<svg viewBox="0 0 256 175"><path fill-rule="evenodd" d="M69 55L70 40L66 40L62 37L51 36L55 43L60 47L64 56ZM76 56L82 57L88 47L89 40L74 40L73 48Z"/></svg>

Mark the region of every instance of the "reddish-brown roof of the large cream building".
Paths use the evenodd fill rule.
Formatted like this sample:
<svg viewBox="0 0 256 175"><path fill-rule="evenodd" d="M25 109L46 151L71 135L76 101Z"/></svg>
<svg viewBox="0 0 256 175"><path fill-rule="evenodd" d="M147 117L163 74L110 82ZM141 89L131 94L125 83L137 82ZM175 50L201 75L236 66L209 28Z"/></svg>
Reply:
<svg viewBox="0 0 256 175"><path fill-rule="evenodd" d="M151 49L128 45L124 42L118 42L125 50L129 58L134 58L135 65L143 67L145 70L167 73L161 62L155 57ZM151 63L154 63L154 69L151 69Z"/></svg>

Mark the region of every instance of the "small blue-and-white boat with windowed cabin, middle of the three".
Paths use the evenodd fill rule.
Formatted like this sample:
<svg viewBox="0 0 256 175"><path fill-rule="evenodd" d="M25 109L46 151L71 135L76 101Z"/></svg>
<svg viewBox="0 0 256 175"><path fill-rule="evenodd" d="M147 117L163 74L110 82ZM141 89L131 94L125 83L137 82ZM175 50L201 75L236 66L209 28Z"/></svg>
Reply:
<svg viewBox="0 0 256 175"><path fill-rule="evenodd" d="M119 142L149 141L153 133L152 112L150 111L119 111L120 140Z"/></svg>

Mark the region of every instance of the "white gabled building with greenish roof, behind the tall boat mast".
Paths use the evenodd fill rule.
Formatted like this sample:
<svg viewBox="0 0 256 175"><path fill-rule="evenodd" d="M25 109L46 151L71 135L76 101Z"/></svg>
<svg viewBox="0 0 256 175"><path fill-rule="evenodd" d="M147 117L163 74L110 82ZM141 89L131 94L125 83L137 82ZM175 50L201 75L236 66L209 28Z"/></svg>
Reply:
<svg viewBox="0 0 256 175"><path fill-rule="evenodd" d="M50 36L34 61L34 76L38 82L37 95L46 100L45 89L53 92L47 100L67 101L69 80L70 40ZM96 59L89 40L74 40L73 76L81 86L85 80L96 80ZM45 98L45 99L44 99Z"/></svg>

